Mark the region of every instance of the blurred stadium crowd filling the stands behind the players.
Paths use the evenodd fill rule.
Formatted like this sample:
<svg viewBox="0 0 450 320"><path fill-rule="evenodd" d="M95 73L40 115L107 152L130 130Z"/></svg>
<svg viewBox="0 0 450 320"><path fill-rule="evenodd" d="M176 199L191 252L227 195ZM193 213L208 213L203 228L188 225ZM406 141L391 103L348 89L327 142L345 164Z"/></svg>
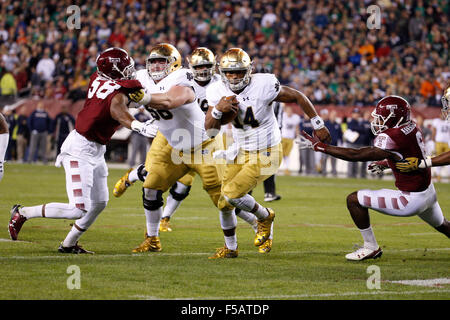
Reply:
<svg viewBox="0 0 450 320"><path fill-rule="evenodd" d="M395 93L439 106L450 76L448 1L78 1L80 28L69 29L72 4L0 3L2 96L82 99L99 52L123 47L139 68L159 42L183 56L241 47L315 104L373 105ZM371 4L380 29L367 27Z"/></svg>

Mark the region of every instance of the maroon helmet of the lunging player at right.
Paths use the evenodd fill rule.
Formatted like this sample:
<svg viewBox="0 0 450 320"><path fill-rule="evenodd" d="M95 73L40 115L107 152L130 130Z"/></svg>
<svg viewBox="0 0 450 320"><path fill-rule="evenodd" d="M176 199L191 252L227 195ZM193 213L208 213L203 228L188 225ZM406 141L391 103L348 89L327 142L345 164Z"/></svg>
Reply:
<svg viewBox="0 0 450 320"><path fill-rule="evenodd" d="M373 121L370 123L374 135L389 128L397 128L411 121L411 106L399 96L387 96L378 101L372 111Z"/></svg>

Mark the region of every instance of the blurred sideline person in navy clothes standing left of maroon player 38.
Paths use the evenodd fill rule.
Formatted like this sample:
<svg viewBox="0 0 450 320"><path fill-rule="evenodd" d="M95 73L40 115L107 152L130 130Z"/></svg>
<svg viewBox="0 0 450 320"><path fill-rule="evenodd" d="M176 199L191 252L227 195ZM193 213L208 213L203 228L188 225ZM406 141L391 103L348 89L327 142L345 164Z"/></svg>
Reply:
<svg viewBox="0 0 450 320"><path fill-rule="evenodd" d="M28 129L30 130L30 147L28 162L35 162L39 158L47 164L47 137L51 131L52 119L45 111L42 101L39 101L36 110L28 117Z"/></svg>

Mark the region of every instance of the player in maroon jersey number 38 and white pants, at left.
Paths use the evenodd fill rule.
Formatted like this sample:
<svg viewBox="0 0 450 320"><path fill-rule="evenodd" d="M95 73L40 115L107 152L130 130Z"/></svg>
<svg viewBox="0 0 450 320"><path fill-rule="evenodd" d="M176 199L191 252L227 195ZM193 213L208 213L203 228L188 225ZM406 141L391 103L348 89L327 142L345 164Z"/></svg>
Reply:
<svg viewBox="0 0 450 320"><path fill-rule="evenodd" d="M78 239L92 225L108 202L106 144L122 125L146 137L157 129L151 121L139 122L128 112L128 95L142 89L134 80L134 61L120 48L109 48L97 57L97 71L91 76L87 99L78 113L75 129L61 146L56 166L66 172L69 203L47 203L33 207L14 205L8 224L11 239L17 240L22 225L31 218L75 219L61 243L61 253L92 253L78 245Z"/></svg>

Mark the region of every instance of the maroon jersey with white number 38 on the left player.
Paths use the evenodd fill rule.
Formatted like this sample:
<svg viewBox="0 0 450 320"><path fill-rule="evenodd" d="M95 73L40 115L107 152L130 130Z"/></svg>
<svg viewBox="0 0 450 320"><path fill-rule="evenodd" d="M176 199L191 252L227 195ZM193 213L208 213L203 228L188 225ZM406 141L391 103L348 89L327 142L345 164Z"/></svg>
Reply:
<svg viewBox="0 0 450 320"><path fill-rule="evenodd" d="M97 72L91 76L83 109L78 113L75 129L86 139L106 144L120 123L111 117L111 100L118 93L141 89L138 80L108 80Z"/></svg>

